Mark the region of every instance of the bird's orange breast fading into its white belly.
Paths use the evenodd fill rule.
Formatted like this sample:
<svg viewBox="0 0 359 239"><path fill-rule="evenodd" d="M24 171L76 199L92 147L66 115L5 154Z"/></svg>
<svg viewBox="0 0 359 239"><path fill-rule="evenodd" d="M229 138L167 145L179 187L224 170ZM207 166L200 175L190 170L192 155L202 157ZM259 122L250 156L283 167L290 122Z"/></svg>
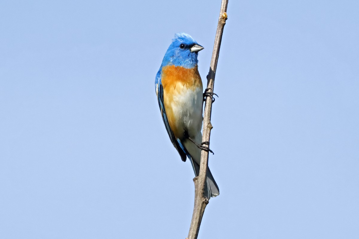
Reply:
<svg viewBox="0 0 359 239"><path fill-rule="evenodd" d="M196 134L202 127L202 81L197 68L191 70L173 72L164 69L162 74L167 118L174 135L180 139L186 134Z"/></svg>

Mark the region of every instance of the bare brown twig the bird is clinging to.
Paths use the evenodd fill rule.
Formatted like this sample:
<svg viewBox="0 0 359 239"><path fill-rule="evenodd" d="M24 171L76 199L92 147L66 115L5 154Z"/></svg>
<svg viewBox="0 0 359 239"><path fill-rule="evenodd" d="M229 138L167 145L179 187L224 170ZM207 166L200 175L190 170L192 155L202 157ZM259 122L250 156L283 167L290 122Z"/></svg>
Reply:
<svg viewBox="0 0 359 239"><path fill-rule="evenodd" d="M214 88L214 77L217 69L217 62L219 56L219 48L221 46L222 34L225 21L227 20L227 5L228 0L222 0L221 10L218 19L217 32L214 40L214 47L211 59L211 65L209 68L209 73L207 76L207 88L209 88L208 92L213 92ZM203 115L203 135L202 142L209 142L211 129L213 128L211 124L211 111L212 111L212 97L210 94L206 97L206 104L204 108ZM209 143L207 144L209 147ZM202 150L201 152L201 165L200 165L200 173L197 177L193 179L195 183L195 206L193 209L192 221L190 226L190 231L188 233L188 239L197 239L198 232L200 229L202 217L204 214L204 210L206 205L208 204L207 198L204 197L204 186L206 182L206 171L208 166L208 151Z"/></svg>

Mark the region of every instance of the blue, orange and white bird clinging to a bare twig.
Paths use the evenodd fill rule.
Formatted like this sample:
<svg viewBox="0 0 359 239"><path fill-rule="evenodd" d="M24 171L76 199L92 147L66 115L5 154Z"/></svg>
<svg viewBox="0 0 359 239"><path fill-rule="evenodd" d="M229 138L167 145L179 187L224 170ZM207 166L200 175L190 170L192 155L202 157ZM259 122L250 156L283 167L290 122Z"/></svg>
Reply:
<svg viewBox="0 0 359 239"><path fill-rule="evenodd" d="M188 158L199 175L202 143L203 86L198 71L198 52L204 49L190 35L176 33L155 77L155 90L163 123L182 161ZM204 196L219 195L207 167Z"/></svg>

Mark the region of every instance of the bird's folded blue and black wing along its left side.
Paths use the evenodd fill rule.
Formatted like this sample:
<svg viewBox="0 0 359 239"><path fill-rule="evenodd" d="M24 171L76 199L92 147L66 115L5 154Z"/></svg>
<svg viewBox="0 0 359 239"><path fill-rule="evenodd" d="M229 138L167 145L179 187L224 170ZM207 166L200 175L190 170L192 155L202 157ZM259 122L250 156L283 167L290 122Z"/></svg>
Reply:
<svg viewBox="0 0 359 239"><path fill-rule="evenodd" d="M166 127L167 133L169 138L171 139L171 142L174 146L174 148L177 149L178 153L181 156L181 159L183 162L186 162L186 155L188 154L187 150L185 149L185 147L183 147L181 141L179 139L176 139L176 137L174 137L174 134L172 132L171 127L169 126L168 123L168 119L167 119L167 115L166 115L166 110L164 108L164 104L163 104L163 86L161 83L161 76L162 76L162 66L159 69L159 71L157 72L156 75L156 80L155 80L155 89L156 89L156 94L157 94L157 100L158 100L158 105L159 105L159 109L161 111L161 115L162 115L162 119L163 119L163 123Z"/></svg>

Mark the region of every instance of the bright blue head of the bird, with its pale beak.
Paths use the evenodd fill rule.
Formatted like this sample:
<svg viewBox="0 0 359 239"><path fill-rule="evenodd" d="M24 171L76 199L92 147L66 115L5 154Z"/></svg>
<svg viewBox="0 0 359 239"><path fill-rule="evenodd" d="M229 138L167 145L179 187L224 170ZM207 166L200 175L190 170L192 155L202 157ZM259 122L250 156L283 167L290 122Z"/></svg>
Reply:
<svg viewBox="0 0 359 239"><path fill-rule="evenodd" d="M198 52L203 47L199 45L190 35L186 33L174 34L171 45L164 55L161 66L182 66L193 68L197 65Z"/></svg>

